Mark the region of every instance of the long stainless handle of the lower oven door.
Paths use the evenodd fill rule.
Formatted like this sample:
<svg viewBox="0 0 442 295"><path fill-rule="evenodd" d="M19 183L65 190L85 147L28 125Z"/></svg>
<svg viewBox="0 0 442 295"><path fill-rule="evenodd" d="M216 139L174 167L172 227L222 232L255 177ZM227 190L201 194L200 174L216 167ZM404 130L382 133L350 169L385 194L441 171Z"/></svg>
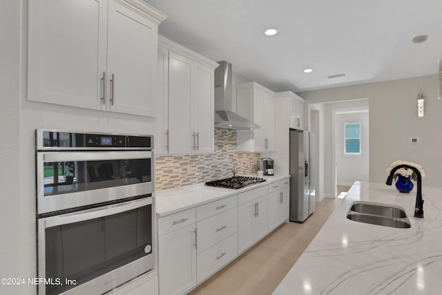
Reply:
<svg viewBox="0 0 442 295"><path fill-rule="evenodd" d="M133 200L131 202L123 202L103 207L96 207L93 209L67 213L59 216L50 216L47 218L41 218L39 220L39 223L44 222L44 228L56 227L58 225L68 225L73 222L80 222L84 220L90 220L117 213L122 213L124 211L130 211L133 209L144 207L149 204L152 204L152 197L144 198L141 200Z"/></svg>

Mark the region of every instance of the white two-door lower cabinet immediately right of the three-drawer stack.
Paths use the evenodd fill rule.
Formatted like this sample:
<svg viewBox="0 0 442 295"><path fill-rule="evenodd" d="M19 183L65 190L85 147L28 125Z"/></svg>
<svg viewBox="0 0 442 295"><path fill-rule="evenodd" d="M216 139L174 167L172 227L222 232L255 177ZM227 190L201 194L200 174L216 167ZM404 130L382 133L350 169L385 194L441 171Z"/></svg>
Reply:
<svg viewBox="0 0 442 295"><path fill-rule="evenodd" d="M238 254L249 249L268 232L267 186L238 196Z"/></svg>

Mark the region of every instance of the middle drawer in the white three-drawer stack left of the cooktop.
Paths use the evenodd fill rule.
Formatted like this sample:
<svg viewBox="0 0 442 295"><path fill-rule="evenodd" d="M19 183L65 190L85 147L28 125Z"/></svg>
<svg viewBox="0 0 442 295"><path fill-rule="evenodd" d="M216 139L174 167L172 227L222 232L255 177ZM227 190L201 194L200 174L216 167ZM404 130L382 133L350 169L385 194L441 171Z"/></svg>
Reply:
<svg viewBox="0 0 442 295"><path fill-rule="evenodd" d="M197 222L197 253L215 245L237 231L238 207Z"/></svg>

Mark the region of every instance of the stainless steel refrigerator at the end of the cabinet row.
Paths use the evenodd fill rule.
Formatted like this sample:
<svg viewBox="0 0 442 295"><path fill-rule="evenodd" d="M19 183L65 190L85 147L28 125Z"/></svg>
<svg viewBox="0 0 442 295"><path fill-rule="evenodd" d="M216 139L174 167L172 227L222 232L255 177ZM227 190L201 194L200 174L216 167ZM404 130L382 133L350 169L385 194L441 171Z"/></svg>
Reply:
<svg viewBox="0 0 442 295"><path fill-rule="evenodd" d="M289 220L304 222L315 209L313 161L314 133L290 129L290 216Z"/></svg>

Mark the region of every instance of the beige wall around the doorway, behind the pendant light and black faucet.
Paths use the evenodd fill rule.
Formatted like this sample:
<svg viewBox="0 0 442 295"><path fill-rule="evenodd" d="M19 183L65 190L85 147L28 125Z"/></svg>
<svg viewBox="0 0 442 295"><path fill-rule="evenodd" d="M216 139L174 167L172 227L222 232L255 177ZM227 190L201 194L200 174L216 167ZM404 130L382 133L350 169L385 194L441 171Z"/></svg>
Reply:
<svg viewBox="0 0 442 295"><path fill-rule="evenodd" d="M425 169L424 185L441 187L442 166L442 101L437 97L437 77L422 77L422 89L427 95L425 117L416 115L416 94L419 77L388 82L361 84L298 93L307 104L340 102L369 98L369 181L385 182L385 169L395 160L417 162ZM327 122L327 112L325 124ZM420 137L420 144L409 144L410 137ZM329 142L326 140L325 142ZM325 146L325 153L331 146ZM327 155L325 156L327 157ZM331 171L325 162L326 171ZM327 181L327 175L325 175ZM327 188L331 191L331 188Z"/></svg>

